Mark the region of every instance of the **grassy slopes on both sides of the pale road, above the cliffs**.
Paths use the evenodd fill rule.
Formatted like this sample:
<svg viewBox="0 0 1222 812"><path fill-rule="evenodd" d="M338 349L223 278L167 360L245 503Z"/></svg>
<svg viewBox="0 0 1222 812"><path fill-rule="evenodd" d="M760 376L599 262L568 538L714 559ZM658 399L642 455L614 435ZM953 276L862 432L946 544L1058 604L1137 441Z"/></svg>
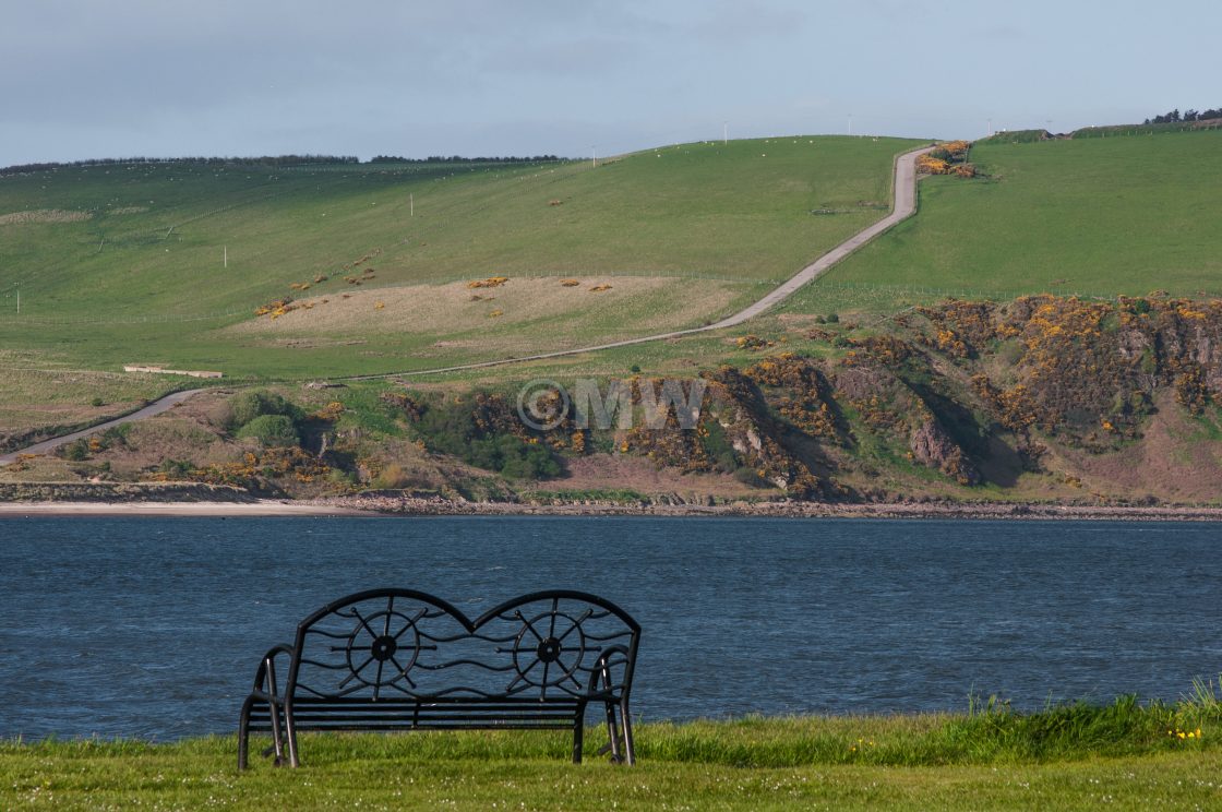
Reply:
<svg viewBox="0 0 1222 812"><path fill-rule="evenodd" d="M705 324L881 216L891 159L916 143L708 142L598 169L133 165L2 177L0 372L24 383L6 393L0 432L95 411L73 385L27 397L46 379L28 369L143 362L221 369L225 383L301 380ZM750 357L733 346L743 333L818 350L793 329L803 319L837 313L884 329L948 295L1216 295L1220 146L1222 131L981 144L971 160L985 177L923 181L914 219L750 325L450 378L692 371ZM466 287L490 275L511 279ZM563 286L569 278L577 285ZM288 295L312 308L253 317ZM136 389L147 397L158 384Z"/></svg>

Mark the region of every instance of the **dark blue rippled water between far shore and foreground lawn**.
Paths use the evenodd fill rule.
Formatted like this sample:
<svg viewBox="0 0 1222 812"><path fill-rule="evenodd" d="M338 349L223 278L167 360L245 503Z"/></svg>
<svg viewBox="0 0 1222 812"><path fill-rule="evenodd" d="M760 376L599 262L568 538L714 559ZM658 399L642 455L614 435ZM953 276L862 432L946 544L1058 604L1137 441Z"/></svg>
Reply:
<svg viewBox="0 0 1222 812"><path fill-rule="evenodd" d="M594 592L644 720L1173 701L1222 673L1222 525L649 517L0 520L0 737L236 729L259 657L343 594L468 616Z"/></svg>

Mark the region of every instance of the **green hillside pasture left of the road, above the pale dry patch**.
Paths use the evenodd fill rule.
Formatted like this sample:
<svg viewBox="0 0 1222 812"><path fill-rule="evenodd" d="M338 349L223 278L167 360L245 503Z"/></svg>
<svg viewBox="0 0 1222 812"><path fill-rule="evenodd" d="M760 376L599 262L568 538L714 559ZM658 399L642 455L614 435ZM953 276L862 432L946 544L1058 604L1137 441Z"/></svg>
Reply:
<svg viewBox="0 0 1222 812"><path fill-rule="evenodd" d="M598 169L171 164L11 176L0 215L88 219L0 225L0 286L21 280L31 318L99 319L244 314L362 257L378 286L491 274L775 281L881 216L891 158L915 143L694 143ZM819 208L841 214L810 215ZM320 292L343 289L336 278Z"/></svg>

